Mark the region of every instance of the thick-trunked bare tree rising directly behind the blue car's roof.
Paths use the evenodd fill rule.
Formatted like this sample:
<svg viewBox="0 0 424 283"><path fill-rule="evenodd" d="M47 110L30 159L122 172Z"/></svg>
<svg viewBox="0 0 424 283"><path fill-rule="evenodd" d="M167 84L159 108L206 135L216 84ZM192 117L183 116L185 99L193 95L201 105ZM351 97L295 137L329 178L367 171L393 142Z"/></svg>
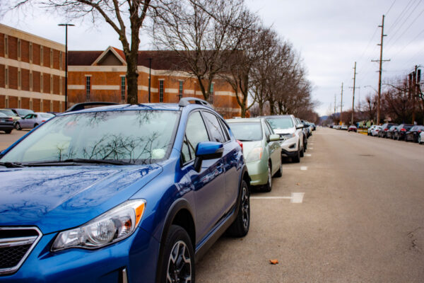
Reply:
<svg viewBox="0 0 424 283"><path fill-rule="evenodd" d="M126 59L127 102L138 103L139 33L148 16L148 10L160 10L160 6L152 6L151 0L13 0L8 5L6 10L23 8L25 5L41 6L64 13L67 18L90 17L93 23L97 21L108 23L122 42ZM128 25L129 32L127 32Z"/></svg>

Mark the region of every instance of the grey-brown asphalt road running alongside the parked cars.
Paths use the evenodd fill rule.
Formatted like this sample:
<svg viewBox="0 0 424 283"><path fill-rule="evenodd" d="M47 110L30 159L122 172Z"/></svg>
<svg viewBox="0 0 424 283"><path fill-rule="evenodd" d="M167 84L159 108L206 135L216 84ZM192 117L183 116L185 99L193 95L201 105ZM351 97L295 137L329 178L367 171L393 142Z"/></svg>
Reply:
<svg viewBox="0 0 424 283"><path fill-rule="evenodd" d="M424 146L323 128L308 146L252 193L248 235L220 238L197 282L424 282Z"/></svg>

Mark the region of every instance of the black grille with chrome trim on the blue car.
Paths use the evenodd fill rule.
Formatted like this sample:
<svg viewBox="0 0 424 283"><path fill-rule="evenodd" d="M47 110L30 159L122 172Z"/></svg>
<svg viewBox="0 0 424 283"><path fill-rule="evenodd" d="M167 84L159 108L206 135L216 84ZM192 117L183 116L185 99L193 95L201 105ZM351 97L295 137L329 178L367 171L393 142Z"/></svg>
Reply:
<svg viewBox="0 0 424 283"><path fill-rule="evenodd" d="M0 275L16 272L41 238L37 228L0 227Z"/></svg>

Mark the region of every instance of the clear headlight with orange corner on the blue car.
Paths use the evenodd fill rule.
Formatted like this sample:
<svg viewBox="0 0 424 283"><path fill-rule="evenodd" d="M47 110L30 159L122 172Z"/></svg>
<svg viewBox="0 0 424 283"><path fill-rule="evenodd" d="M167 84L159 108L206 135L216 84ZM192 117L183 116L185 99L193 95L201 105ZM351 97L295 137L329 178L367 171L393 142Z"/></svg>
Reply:
<svg viewBox="0 0 424 283"><path fill-rule="evenodd" d="M100 248L128 237L143 216L146 200L129 200L78 228L62 231L52 251L65 248Z"/></svg>

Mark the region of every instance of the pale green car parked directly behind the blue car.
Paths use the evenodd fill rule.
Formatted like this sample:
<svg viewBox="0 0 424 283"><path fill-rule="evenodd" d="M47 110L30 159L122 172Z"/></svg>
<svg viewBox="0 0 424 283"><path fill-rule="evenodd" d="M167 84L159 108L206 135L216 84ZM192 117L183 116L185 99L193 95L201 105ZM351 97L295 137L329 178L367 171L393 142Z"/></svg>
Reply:
<svg viewBox="0 0 424 283"><path fill-rule="evenodd" d="M283 175L280 136L274 134L264 118L227 120L235 138L242 141L250 185L272 189L272 177Z"/></svg>

